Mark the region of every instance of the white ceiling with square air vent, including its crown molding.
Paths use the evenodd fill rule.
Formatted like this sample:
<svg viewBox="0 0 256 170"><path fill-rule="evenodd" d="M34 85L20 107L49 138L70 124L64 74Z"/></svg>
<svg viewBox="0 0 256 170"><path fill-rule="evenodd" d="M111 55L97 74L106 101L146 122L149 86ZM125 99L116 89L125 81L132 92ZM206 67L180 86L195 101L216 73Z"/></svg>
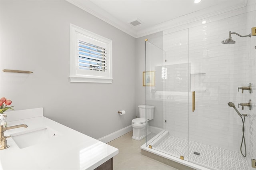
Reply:
<svg viewBox="0 0 256 170"><path fill-rule="evenodd" d="M247 0L67 0L138 38L246 6ZM130 22L138 20L138 26Z"/></svg>

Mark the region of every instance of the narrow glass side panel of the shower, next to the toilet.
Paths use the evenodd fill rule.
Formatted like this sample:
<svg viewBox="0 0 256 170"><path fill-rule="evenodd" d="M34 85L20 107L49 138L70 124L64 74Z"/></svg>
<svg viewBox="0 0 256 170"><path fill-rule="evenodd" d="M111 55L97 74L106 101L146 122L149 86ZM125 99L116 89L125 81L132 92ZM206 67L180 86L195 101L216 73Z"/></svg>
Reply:
<svg viewBox="0 0 256 170"><path fill-rule="evenodd" d="M166 130L166 52L162 49L162 37L145 40L145 45L143 86L146 88L146 105L154 106L154 119L146 124L146 146L152 147L154 139Z"/></svg>

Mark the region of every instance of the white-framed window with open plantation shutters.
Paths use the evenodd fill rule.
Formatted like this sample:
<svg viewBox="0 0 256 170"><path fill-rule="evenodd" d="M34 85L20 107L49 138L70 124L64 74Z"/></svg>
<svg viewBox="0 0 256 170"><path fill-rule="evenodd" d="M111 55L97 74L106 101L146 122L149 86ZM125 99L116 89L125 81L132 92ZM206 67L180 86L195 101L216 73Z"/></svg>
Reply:
<svg viewBox="0 0 256 170"><path fill-rule="evenodd" d="M112 83L112 40L70 24L70 81Z"/></svg>

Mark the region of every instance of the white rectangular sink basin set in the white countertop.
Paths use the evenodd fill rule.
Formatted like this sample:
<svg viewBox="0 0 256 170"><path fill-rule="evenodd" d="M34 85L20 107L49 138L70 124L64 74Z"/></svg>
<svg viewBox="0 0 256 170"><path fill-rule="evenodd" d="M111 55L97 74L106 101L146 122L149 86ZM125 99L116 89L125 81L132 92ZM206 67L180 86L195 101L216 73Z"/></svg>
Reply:
<svg viewBox="0 0 256 170"><path fill-rule="evenodd" d="M30 129L18 133L11 134L10 136L19 148L26 148L38 143L47 142L54 138L57 133L50 127L41 127Z"/></svg>

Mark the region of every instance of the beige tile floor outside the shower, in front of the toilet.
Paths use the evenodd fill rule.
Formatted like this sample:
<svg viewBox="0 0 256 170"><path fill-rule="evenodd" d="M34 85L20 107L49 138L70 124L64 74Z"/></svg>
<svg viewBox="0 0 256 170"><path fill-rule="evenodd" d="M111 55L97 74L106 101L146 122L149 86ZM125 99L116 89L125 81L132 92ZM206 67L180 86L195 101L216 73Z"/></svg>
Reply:
<svg viewBox="0 0 256 170"><path fill-rule="evenodd" d="M132 139L132 131L108 142L109 145L119 149L113 158L114 170L177 170L162 162L141 154L140 146L145 138L137 141Z"/></svg>

